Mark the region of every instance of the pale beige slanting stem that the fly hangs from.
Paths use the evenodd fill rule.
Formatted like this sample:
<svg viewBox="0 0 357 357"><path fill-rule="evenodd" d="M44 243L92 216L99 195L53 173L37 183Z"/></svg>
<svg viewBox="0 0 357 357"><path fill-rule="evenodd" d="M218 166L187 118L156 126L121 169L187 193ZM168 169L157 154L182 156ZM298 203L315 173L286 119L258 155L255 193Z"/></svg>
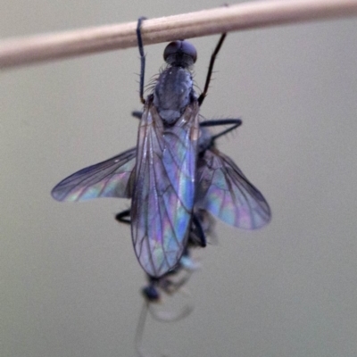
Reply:
<svg viewBox="0 0 357 357"><path fill-rule="evenodd" d="M271 0L147 20L145 45L357 15L357 0ZM137 46L137 21L0 42L0 68Z"/></svg>

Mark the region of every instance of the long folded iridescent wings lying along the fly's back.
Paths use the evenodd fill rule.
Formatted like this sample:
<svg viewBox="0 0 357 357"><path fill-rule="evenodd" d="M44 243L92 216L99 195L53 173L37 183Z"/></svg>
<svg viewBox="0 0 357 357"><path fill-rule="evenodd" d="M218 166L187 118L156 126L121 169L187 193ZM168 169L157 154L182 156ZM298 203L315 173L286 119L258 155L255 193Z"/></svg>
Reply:
<svg viewBox="0 0 357 357"><path fill-rule="evenodd" d="M164 128L147 101L137 139L131 233L137 259L152 277L175 268L184 251L195 200L198 104Z"/></svg>

